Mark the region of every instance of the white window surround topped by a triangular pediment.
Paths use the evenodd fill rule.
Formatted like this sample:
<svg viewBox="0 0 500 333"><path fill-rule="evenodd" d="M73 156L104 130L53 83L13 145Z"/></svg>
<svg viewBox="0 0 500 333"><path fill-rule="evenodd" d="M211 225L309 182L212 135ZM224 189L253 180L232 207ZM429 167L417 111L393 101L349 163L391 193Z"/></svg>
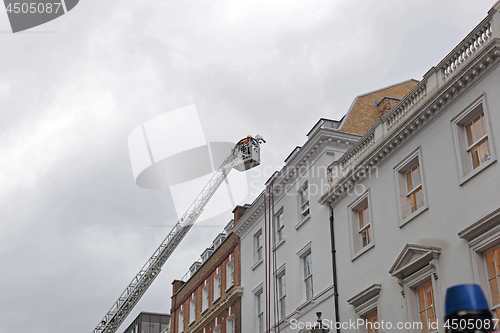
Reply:
<svg viewBox="0 0 500 333"><path fill-rule="evenodd" d="M389 271L392 276L397 278L398 284L401 286L401 294L406 300L408 322L420 322L417 289L431 281L439 327L437 330L429 330L429 333L443 330L441 318L444 318L444 308L439 297L443 293L441 293L440 284L438 283L438 258L440 254L441 249L439 248L407 244ZM408 262L409 258L411 258L410 262ZM421 333L422 331L415 327L409 332Z"/></svg>

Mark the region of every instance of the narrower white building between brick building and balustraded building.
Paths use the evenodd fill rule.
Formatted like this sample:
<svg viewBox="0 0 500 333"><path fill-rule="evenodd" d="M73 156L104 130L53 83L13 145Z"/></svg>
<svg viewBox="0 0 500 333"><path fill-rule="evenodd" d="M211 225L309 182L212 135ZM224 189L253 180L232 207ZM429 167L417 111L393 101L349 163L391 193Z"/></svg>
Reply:
<svg viewBox="0 0 500 333"><path fill-rule="evenodd" d="M298 332L295 321L314 322L317 311L334 314L330 213L318 201L328 189L327 166L360 138L338 126L321 119L235 223L243 333L265 332L278 322L281 332Z"/></svg>

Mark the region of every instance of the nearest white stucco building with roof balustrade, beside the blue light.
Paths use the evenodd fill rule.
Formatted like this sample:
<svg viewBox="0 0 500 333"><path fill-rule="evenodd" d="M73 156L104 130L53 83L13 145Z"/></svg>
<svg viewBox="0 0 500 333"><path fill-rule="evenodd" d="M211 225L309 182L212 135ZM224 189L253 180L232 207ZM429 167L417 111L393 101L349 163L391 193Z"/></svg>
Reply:
<svg viewBox="0 0 500 333"><path fill-rule="evenodd" d="M462 283L480 284L500 318L499 10L329 167L320 203L334 211L340 322L444 332L445 291ZM322 232L312 253L327 256Z"/></svg>

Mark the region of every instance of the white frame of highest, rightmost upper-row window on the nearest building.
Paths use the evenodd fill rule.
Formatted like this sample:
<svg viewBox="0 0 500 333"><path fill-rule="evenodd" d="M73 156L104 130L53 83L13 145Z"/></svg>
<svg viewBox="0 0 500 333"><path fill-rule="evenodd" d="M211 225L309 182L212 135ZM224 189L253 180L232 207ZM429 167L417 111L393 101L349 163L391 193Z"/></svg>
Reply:
<svg viewBox="0 0 500 333"><path fill-rule="evenodd" d="M472 166L472 159L469 154L467 135L465 126L470 123L479 114L484 113L487 134L484 137L488 138L490 148L490 158L476 168ZM451 120L452 133L454 139L455 153L458 165L459 184L463 185L469 179L486 169L496 160L495 145L490 125L490 116L486 103L486 96L483 94L472 102L467 108L460 112ZM478 140L480 141L480 140Z"/></svg>

